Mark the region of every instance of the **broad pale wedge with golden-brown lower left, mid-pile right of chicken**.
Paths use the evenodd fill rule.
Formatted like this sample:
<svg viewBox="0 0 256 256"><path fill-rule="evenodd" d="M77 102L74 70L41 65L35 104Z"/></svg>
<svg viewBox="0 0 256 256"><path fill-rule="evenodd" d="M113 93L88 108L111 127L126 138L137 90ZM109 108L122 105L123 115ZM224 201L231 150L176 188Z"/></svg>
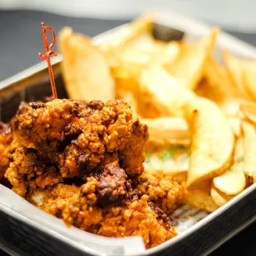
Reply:
<svg viewBox="0 0 256 256"><path fill-rule="evenodd" d="M143 69L139 82L140 107L145 117L182 117L183 106L196 97L194 92L181 86L177 79L159 66Z"/></svg>

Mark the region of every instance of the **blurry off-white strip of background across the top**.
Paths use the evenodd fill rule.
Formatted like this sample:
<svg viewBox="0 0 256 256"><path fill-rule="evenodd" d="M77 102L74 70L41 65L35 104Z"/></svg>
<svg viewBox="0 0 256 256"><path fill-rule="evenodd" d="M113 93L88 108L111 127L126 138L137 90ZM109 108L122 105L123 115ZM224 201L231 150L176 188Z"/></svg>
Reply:
<svg viewBox="0 0 256 256"><path fill-rule="evenodd" d="M256 31L254 0L1 0L7 9L54 12L70 17L130 19L145 9L182 12L234 31Z"/></svg>

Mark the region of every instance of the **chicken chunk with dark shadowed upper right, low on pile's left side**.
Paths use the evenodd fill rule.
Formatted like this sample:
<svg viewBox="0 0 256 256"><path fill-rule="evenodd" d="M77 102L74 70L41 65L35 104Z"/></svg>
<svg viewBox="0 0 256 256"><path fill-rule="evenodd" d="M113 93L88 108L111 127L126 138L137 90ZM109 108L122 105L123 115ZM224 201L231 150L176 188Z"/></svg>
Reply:
<svg viewBox="0 0 256 256"><path fill-rule="evenodd" d="M62 182L55 166L46 164L36 149L24 147L16 149L5 178L12 184L12 190L21 197L26 196L28 189L33 192L37 187L45 188Z"/></svg>

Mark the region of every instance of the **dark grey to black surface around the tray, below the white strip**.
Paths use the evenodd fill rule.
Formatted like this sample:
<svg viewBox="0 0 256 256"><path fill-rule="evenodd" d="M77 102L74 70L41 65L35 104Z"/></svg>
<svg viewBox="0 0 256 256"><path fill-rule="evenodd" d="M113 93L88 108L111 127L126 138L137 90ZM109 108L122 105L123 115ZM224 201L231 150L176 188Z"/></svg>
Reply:
<svg viewBox="0 0 256 256"><path fill-rule="evenodd" d="M43 52L40 21L45 21L46 26L52 26L56 33L63 26L71 26L74 31L88 36L97 36L115 26L126 23L126 20L61 17L45 12L0 11L0 81L40 62L37 57L38 52ZM225 30L225 28L223 29ZM228 32L256 45L256 34ZM254 235L256 235L256 224L249 226L239 235L230 239L211 256L255 256ZM7 254L0 249L0 256L3 255Z"/></svg>

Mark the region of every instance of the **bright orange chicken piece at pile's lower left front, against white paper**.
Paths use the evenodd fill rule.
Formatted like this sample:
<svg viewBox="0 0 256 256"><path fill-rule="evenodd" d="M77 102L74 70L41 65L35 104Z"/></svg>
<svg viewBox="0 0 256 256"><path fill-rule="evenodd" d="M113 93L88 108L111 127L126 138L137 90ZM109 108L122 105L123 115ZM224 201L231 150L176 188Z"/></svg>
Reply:
<svg viewBox="0 0 256 256"><path fill-rule="evenodd" d="M102 206L97 205L96 178L88 178L81 187L57 184L42 193L40 209L74 225L81 230L96 233L103 219ZM31 198L31 197L30 197Z"/></svg>

